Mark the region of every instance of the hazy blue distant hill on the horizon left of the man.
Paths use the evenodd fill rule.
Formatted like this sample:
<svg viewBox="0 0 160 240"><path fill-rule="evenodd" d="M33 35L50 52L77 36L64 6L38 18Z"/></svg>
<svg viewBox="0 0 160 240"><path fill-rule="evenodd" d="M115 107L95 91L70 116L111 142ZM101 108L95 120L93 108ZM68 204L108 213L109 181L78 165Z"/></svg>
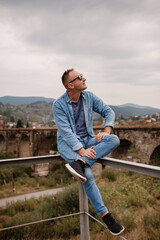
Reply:
<svg viewBox="0 0 160 240"><path fill-rule="evenodd" d="M13 96L4 96L0 97L0 102L3 104L10 104L13 106L31 104L35 102L53 102L54 98L45 98L45 97L13 97Z"/></svg>

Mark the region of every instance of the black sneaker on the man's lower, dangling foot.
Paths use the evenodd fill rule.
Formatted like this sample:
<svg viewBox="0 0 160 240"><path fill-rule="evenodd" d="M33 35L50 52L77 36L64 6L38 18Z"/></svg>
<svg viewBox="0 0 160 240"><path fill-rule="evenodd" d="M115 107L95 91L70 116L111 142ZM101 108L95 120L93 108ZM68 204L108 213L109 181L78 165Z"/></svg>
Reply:
<svg viewBox="0 0 160 240"><path fill-rule="evenodd" d="M119 235L124 231L124 227L112 217L111 213L107 213L103 221L113 235Z"/></svg>

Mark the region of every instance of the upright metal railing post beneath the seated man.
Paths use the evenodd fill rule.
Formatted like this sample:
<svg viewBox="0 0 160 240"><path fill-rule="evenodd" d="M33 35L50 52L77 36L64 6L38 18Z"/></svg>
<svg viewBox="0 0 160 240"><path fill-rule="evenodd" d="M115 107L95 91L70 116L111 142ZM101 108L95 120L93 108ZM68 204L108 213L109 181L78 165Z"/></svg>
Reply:
<svg viewBox="0 0 160 240"><path fill-rule="evenodd" d="M88 197L86 196L82 183L79 186L79 210L80 212L88 212ZM80 235L81 240L89 240L89 217L87 214L80 215Z"/></svg>

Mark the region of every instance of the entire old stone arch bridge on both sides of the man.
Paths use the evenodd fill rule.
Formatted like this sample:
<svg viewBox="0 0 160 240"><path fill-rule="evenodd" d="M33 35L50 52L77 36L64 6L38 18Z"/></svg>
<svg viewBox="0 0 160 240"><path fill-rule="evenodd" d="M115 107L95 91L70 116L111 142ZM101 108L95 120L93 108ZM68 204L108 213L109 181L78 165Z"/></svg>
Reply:
<svg viewBox="0 0 160 240"><path fill-rule="evenodd" d="M103 126L95 126L95 133L103 131ZM137 150L139 162L160 161L160 127L122 126L115 127L121 143L111 154L112 157L127 159L131 144ZM11 153L15 157L48 155L56 145L57 128L0 129L0 152Z"/></svg>

